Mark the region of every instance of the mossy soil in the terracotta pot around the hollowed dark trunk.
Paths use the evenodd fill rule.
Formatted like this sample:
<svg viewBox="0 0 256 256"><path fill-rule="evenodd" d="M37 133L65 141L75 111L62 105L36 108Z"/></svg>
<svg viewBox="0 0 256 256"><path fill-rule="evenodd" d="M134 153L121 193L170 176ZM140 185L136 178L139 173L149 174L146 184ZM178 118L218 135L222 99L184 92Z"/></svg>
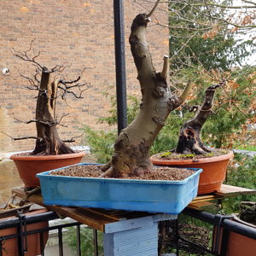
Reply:
<svg viewBox="0 0 256 256"><path fill-rule="evenodd" d="M199 159L207 158L212 156L218 156L222 154L228 154L230 151L227 149L218 149L211 148L212 152L207 154L177 154L172 151L166 151L159 154L154 154L152 157L157 159L170 159L170 160L179 160L179 159Z"/></svg>

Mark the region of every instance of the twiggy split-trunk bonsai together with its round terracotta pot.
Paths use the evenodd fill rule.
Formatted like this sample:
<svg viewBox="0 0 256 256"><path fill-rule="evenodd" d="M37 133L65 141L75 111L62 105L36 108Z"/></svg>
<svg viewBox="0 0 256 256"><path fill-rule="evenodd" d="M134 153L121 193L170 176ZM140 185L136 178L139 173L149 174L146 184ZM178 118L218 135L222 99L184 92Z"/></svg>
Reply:
<svg viewBox="0 0 256 256"><path fill-rule="evenodd" d="M31 50L32 46L24 53L15 51L15 56L36 66L33 78L24 75L22 77L29 81L30 86L27 87L29 90L38 90L36 117L24 122L36 124L37 136L12 138L14 140L32 138L36 140L36 145L28 154L14 154L10 157L15 161L20 178L26 188L40 185L36 177L38 172L79 163L84 156L84 152L75 152L65 143L74 142L73 139L62 141L59 137L57 125L61 125L64 115L61 116L61 119L56 118L56 101L60 97L65 99L67 94L72 94L77 99L82 98L83 91L87 89L87 87L84 89L84 86L88 85L79 83L81 76L72 81L63 79L61 73L66 67L59 65L53 68L43 67L36 59L40 53L30 57Z"/></svg>

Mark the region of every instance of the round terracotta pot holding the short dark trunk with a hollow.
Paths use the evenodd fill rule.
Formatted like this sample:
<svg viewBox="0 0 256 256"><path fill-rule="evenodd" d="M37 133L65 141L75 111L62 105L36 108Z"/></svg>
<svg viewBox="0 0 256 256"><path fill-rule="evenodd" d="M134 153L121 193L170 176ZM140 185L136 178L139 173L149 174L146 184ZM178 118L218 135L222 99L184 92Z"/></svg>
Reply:
<svg viewBox="0 0 256 256"><path fill-rule="evenodd" d="M227 166L233 156L233 152L230 151L228 154L201 159L167 160L153 155L150 160L157 166L202 168L203 172L198 185L198 195L202 195L220 189L226 176Z"/></svg>

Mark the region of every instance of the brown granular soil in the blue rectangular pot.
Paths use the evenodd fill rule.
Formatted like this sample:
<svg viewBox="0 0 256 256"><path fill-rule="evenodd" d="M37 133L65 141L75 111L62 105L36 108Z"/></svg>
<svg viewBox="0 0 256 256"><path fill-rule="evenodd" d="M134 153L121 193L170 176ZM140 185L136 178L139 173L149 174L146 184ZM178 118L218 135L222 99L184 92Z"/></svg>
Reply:
<svg viewBox="0 0 256 256"><path fill-rule="evenodd" d="M139 177L127 177L126 179L146 179L146 180L183 180L191 176L195 171L184 168L173 168L166 166L154 167L153 172L145 173ZM69 177L100 177L102 171L100 166L71 166L62 170L50 172L49 175L69 176Z"/></svg>

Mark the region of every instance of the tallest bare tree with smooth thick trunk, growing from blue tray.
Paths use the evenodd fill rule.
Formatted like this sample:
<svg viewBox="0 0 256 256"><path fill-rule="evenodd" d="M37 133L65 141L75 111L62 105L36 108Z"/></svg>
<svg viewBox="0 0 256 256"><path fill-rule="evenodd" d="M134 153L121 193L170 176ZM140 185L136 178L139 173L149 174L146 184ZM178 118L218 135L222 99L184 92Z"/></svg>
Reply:
<svg viewBox="0 0 256 256"><path fill-rule="evenodd" d="M160 1L158 0L154 9ZM112 160L102 166L102 177L128 177L152 172L149 149L161 128L165 125L169 113L180 106L189 95L190 83L181 96L175 96L167 86L166 76L169 65L164 57L162 71L156 72L146 40L147 24L154 9L147 14L140 14L131 25L131 53L137 67L137 79L142 91L142 103L137 118L128 125L114 144Z"/></svg>

